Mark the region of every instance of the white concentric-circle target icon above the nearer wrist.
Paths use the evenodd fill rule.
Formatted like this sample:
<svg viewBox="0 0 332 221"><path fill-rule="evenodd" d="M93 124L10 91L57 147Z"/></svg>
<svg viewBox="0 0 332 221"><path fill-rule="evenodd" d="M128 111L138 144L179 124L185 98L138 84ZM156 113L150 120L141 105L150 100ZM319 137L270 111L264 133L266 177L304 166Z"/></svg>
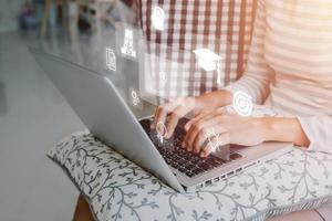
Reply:
<svg viewBox="0 0 332 221"><path fill-rule="evenodd" d="M232 107L238 115L248 117L252 114L253 104L249 94L238 91L232 96Z"/></svg>

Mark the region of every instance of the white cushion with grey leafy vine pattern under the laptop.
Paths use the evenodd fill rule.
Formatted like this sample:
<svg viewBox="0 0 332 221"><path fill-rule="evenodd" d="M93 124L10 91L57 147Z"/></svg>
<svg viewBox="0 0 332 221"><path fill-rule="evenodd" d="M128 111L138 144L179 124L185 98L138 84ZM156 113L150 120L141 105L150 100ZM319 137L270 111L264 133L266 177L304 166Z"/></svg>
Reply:
<svg viewBox="0 0 332 221"><path fill-rule="evenodd" d="M95 220L264 220L332 202L332 155L293 149L199 192L181 194L87 131L48 156L90 203Z"/></svg>

